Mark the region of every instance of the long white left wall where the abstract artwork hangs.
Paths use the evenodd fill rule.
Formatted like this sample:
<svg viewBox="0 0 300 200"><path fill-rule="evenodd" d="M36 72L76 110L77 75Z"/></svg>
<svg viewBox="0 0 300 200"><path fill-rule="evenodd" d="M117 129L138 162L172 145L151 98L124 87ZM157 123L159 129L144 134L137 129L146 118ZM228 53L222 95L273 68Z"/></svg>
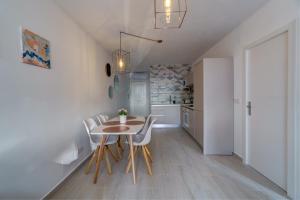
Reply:
<svg viewBox="0 0 300 200"><path fill-rule="evenodd" d="M52 69L19 61L20 26L50 41ZM127 107L128 88L107 97L110 54L51 0L1 0L0 27L0 198L41 198L90 153L82 120ZM54 163L73 141L80 158Z"/></svg>

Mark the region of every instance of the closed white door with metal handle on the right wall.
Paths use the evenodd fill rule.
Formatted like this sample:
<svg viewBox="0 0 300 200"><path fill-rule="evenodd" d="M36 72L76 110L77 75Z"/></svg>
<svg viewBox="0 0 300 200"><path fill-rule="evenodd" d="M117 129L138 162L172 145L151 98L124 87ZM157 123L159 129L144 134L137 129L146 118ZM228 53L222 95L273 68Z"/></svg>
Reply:
<svg viewBox="0 0 300 200"><path fill-rule="evenodd" d="M288 33L248 49L246 62L248 164L286 190Z"/></svg>

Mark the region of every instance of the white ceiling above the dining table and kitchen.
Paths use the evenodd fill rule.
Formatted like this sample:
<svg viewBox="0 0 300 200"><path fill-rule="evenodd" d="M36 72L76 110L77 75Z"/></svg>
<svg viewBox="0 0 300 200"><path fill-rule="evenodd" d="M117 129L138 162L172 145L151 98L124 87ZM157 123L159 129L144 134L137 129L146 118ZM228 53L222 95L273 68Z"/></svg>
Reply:
<svg viewBox="0 0 300 200"><path fill-rule="evenodd" d="M187 0L180 29L154 29L154 0L54 0L107 51L119 48L126 31L163 43L124 37L131 65L143 71L154 64L189 64L268 0Z"/></svg>

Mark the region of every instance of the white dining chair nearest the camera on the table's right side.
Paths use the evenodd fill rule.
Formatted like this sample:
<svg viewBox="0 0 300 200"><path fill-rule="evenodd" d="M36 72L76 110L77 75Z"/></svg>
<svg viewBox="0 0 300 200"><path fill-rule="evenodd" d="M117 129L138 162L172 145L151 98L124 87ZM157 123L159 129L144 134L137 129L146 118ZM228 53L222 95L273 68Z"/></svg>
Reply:
<svg viewBox="0 0 300 200"><path fill-rule="evenodd" d="M152 127L153 127L153 124L155 123L155 121L156 121L156 119L152 119L152 117L149 116L146 120L146 123L145 123L142 131L139 134L133 135L133 137L132 137L132 143L134 146L134 157L136 156L139 149L142 149L145 163L147 165L148 173L150 176L152 176L151 163L152 163L153 159L152 159L151 152L147 145L151 141ZM129 172L130 168L131 168L131 156L129 156L126 173Z"/></svg>

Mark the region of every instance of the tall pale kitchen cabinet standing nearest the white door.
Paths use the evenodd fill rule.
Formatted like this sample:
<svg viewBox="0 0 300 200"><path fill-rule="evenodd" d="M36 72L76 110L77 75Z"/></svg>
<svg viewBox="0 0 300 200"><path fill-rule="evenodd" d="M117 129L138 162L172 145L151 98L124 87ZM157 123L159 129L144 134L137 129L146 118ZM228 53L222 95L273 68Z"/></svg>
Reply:
<svg viewBox="0 0 300 200"><path fill-rule="evenodd" d="M233 153L234 77L231 58L205 58L193 66L194 135L203 154Z"/></svg>

